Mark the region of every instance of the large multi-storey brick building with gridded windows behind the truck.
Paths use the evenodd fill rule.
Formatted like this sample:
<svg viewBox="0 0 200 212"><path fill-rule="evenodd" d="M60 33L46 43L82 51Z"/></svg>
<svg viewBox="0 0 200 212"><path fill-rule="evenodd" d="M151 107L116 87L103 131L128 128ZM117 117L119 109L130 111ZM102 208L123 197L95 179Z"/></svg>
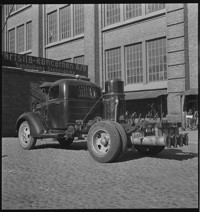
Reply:
<svg viewBox="0 0 200 212"><path fill-rule="evenodd" d="M197 110L197 4L4 5L5 22L4 51L88 65L102 88L120 78L131 113L184 125Z"/></svg>

